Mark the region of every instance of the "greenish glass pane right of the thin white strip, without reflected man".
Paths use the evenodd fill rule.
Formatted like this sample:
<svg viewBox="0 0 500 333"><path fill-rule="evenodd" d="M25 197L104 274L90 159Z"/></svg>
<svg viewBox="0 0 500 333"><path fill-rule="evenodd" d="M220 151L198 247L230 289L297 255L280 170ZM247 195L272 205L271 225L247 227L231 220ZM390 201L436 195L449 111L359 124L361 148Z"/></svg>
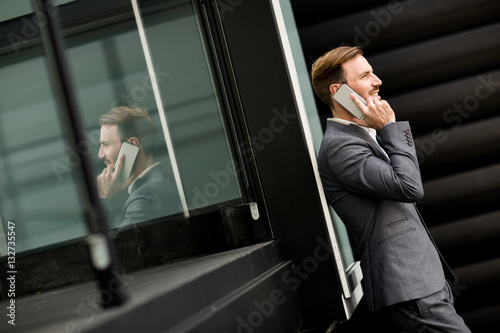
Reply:
<svg viewBox="0 0 500 333"><path fill-rule="evenodd" d="M167 73L159 87L189 208L239 199L237 170L193 6L184 0L159 8L143 8L144 23L155 68Z"/></svg>

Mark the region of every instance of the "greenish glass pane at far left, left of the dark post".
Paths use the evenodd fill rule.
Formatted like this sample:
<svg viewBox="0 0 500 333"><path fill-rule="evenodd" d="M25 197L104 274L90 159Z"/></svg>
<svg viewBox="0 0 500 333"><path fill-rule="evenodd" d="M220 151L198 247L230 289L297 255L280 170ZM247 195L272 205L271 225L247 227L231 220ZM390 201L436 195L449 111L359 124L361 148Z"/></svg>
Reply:
<svg viewBox="0 0 500 333"><path fill-rule="evenodd" d="M0 56L0 211L16 251L86 233L41 47ZM36 81L33 80L36 78Z"/></svg>

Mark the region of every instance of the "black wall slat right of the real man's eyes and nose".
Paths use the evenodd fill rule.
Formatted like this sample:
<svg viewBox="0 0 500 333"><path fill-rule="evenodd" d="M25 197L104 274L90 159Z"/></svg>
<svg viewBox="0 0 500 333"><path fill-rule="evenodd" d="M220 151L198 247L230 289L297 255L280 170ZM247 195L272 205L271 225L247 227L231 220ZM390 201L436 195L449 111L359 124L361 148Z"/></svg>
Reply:
<svg viewBox="0 0 500 333"><path fill-rule="evenodd" d="M394 94L487 71L498 64L500 23L367 55Z"/></svg>

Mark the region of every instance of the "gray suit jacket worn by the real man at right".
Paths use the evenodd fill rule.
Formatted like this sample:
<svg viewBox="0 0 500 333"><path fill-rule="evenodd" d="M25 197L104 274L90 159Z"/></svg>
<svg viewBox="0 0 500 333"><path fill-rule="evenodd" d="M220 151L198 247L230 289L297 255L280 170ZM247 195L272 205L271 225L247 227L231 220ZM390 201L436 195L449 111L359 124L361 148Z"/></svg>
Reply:
<svg viewBox="0 0 500 333"><path fill-rule="evenodd" d="M370 311L433 294L445 274L454 279L414 203L423 186L408 122L387 124L377 141L357 125L328 121L318 153L328 202L361 261Z"/></svg>

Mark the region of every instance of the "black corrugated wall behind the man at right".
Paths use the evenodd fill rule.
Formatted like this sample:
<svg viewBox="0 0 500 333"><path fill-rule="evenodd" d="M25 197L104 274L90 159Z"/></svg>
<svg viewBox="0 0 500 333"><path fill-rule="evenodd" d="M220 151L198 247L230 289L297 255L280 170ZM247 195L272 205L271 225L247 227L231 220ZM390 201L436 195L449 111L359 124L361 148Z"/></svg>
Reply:
<svg viewBox="0 0 500 333"><path fill-rule="evenodd" d="M381 95L411 123L425 190L417 206L461 279L457 309L472 331L498 323L500 2L350 1L356 11L316 22L323 1L292 3L308 22L299 27L310 63L332 47L363 47ZM324 122L330 110L316 101Z"/></svg>

